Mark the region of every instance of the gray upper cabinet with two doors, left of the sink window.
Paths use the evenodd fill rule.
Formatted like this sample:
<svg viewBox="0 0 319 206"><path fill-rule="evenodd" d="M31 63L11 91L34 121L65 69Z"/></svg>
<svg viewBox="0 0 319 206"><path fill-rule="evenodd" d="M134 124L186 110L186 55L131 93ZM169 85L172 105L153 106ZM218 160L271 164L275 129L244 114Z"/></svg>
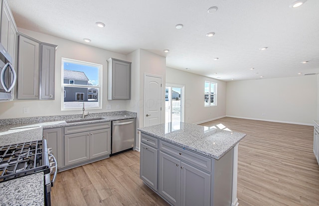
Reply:
<svg viewBox="0 0 319 206"><path fill-rule="evenodd" d="M55 47L19 33L18 99L54 99Z"/></svg>

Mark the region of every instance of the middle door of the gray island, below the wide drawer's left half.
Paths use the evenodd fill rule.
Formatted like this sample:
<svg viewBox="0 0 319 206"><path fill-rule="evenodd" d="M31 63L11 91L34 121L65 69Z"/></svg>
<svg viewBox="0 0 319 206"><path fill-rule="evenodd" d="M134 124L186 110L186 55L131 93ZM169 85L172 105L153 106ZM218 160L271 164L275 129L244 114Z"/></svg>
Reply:
<svg viewBox="0 0 319 206"><path fill-rule="evenodd" d="M179 206L180 161L160 151L159 193L173 206Z"/></svg>

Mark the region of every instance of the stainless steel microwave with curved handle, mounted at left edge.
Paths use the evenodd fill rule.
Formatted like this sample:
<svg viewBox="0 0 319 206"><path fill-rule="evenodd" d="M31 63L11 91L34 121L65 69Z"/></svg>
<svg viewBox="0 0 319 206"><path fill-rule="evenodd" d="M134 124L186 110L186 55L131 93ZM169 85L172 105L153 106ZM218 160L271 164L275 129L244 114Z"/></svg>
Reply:
<svg viewBox="0 0 319 206"><path fill-rule="evenodd" d="M0 102L11 101L14 98L13 87L16 82L16 73L12 64L12 57L0 43Z"/></svg>

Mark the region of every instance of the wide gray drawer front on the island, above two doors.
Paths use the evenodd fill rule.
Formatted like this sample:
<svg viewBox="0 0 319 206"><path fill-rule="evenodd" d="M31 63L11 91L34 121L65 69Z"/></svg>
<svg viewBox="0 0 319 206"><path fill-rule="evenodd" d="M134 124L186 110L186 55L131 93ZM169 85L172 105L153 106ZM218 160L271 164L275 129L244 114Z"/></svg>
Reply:
<svg viewBox="0 0 319 206"><path fill-rule="evenodd" d="M160 150L181 160L192 164L204 171L211 172L211 158L199 155L195 152L183 149L160 140Z"/></svg>

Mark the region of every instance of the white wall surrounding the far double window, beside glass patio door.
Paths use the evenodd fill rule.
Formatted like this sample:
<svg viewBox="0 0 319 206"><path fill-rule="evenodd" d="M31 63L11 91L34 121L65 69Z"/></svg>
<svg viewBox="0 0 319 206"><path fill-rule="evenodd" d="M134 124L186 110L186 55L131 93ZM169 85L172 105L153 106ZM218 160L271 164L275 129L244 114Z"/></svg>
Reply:
<svg viewBox="0 0 319 206"><path fill-rule="evenodd" d="M205 81L217 82L217 106L204 107ZM166 83L185 86L185 122L200 123L226 115L226 82L166 67Z"/></svg>

